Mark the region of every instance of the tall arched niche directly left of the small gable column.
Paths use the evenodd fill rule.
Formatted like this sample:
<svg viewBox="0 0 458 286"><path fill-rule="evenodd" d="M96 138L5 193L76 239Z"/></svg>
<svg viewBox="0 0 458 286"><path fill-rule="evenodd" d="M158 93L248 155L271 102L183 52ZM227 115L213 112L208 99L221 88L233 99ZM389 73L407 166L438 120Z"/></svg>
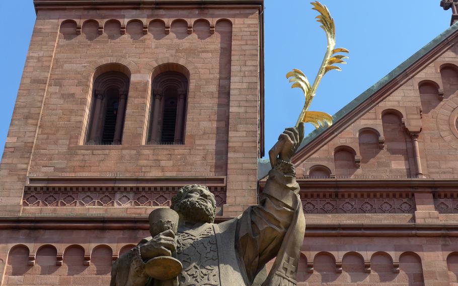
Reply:
<svg viewBox="0 0 458 286"><path fill-rule="evenodd" d="M410 165L407 142L410 138L403 123L403 115L395 109L387 109L382 112L381 122L385 135L385 146L390 156L387 172L389 177L410 177Z"/></svg>

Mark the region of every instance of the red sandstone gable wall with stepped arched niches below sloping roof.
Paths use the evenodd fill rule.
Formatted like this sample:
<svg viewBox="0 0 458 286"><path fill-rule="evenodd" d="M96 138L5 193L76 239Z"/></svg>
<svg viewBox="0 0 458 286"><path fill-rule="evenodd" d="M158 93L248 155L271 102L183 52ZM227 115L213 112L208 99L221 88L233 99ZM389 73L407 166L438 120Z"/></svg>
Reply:
<svg viewBox="0 0 458 286"><path fill-rule="evenodd" d="M421 177L458 178L457 52L453 45L436 52L325 146L298 159L298 176L323 165L341 179L416 178L411 135L417 133Z"/></svg>

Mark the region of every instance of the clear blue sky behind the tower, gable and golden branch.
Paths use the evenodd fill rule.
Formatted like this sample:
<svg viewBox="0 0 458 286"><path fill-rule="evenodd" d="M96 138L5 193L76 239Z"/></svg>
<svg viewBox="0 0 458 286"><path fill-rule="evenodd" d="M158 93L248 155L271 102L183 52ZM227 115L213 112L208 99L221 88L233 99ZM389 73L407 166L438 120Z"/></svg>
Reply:
<svg viewBox="0 0 458 286"><path fill-rule="evenodd" d="M341 73L328 73L311 110L334 114L393 68L447 29L451 11L439 0L403 2L384 0L322 0L337 27L337 46L350 50ZM297 120L304 99L299 89L290 89L285 78L299 68L311 82L315 79L326 38L318 15L309 1L265 0L265 146ZM22 70L35 21L32 0L0 1L0 27L4 27L0 54L2 99L0 105L0 150L3 151L13 114ZM309 124L310 125L310 124ZM306 133L312 131L307 126Z"/></svg>

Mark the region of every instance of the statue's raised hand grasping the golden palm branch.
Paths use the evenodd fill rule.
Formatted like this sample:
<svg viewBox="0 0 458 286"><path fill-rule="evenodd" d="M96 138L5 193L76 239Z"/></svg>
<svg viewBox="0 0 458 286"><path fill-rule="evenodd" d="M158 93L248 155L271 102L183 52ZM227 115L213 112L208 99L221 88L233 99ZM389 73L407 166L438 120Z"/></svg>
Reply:
<svg viewBox="0 0 458 286"><path fill-rule="evenodd" d="M278 141L269 151L270 165L275 167L277 157L285 162L291 162L291 158L296 153L297 148L304 136L304 124L299 127L286 128L278 137Z"/></svg>

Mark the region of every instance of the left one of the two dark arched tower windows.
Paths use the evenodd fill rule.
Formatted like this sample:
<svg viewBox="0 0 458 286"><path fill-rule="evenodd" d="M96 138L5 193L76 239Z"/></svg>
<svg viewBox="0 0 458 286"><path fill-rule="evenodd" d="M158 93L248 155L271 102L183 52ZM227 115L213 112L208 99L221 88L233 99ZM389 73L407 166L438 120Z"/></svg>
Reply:
<svg viewBox="0 0 458 286"><path fill-rule="evenodd" d="M121 144L128 90L129 78L122 72L105 72L95 79L88 145Z"/></svg>

